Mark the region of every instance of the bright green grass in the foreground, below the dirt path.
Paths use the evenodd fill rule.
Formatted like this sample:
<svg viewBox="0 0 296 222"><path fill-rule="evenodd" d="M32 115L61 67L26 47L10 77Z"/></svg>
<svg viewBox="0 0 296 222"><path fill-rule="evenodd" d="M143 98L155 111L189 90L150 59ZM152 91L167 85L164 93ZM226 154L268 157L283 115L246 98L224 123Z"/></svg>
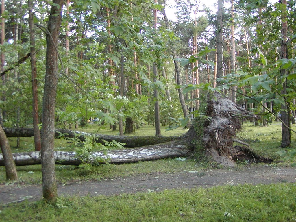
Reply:
<svg viewBox="0 0 296 222"><path fill-rule="evenodd" d="M0 221L296 221L296 185L239 185L10 205ZM227 213L226 213L227 212Z"/></svg>

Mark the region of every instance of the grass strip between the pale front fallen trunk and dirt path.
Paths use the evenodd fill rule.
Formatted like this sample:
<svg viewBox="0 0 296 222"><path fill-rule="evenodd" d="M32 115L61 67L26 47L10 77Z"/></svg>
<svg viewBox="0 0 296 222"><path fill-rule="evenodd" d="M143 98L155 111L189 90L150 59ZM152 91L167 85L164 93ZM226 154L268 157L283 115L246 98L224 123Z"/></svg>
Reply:
<svg viewBox="0 0 296 222"><path fill-rule="evenodd" d="M207 167L210 167L207 165ZM122 178L149 173L173 173L182 171L199 171L205 168L202 163L194 160L179 161L176 158L157 161L147 161L122 165L99 165L94 166L91 171L80 169L75 166L56 165L56 178L58 183L81 180L101 180L110 178ZM17 167L17 174L20 183L41 184L41 165ZM5 184L5 168L0 167L0 184Z"/></svg>

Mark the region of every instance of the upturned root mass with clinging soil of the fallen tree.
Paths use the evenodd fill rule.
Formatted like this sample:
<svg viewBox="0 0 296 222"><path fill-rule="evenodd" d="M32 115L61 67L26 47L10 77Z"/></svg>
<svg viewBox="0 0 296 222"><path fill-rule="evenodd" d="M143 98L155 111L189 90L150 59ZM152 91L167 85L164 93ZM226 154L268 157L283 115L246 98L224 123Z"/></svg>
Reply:
<svg viewBox="0 0 296 222"><path fill-rule="evenodd" d="M250 115L223 95L208 94L201 102L200 115L195 118L191 128L184 138L194 144L194 153L205 153L223 166L234 166L237 160L250 162L271 163L273 160L261 157L249 145L236 138L237 132L242 128L242 118ZM235 145L234 142L240 144Z"/></svg>

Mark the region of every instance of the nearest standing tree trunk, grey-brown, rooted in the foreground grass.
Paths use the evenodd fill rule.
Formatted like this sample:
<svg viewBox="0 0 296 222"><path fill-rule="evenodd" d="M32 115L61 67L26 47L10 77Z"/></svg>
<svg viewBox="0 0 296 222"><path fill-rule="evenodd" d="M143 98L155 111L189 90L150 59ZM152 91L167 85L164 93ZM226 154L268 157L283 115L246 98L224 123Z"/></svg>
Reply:
<svg viewBox="0 0 296 222"><path fill-rule="evenodd" d="M46 34L46 73L43 96L41 168L43 197L46 202L57 201L57 181L54 164L54 123L57 96L59 28L62 22L63 0L53 0Z"/></svg>

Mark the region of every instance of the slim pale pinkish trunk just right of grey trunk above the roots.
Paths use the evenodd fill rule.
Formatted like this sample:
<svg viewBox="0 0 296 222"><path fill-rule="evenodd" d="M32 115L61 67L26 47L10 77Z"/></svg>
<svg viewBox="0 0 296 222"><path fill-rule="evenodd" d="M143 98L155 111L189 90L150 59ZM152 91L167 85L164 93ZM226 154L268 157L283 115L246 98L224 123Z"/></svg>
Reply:
<svg viewBox="0 0 296 222"><path fill-rule="evenodd" d="M231 73L235 73L235 42L234 42L234 1L231 0ZM231 101L236 102L236 86L231 86Z"/></svg>

